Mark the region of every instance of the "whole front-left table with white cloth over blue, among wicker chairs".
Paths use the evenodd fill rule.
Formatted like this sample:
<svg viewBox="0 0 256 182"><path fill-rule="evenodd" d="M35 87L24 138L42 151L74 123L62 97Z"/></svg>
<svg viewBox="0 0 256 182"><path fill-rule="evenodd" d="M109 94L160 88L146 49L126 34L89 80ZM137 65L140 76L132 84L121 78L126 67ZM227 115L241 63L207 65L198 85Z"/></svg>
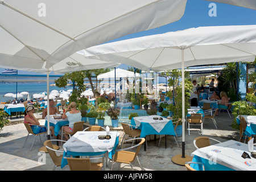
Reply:
<svg viewBox="0 0 256 182"><path fill-rule="evenodd" d="M105 155L112 159L119 144L120 133L109 131L110 139L100 139L99 136L102 135L106 135L106 131L77 131L63 144L64 153L61 160L61 168L68 164L68 156Z"/></svg>

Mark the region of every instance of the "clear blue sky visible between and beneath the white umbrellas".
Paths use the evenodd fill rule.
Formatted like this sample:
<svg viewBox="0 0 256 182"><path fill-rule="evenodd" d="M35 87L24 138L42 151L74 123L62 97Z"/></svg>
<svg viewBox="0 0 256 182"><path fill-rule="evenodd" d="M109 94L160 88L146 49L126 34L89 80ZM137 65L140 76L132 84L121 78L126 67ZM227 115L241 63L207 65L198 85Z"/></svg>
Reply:
<svg viewBox="0 0 256 182"><path fill-rule="evenodd" d="M241 0L242 1L242 0ZM201 26L229 26L229 25L249 25L256 24L256 10L246 9L243 7L226 5L224 3L216 4L216 15L209 16L209 11L212 9L208 7L210 1L203 0L188 0L185 13L183 17L177 22L167 24L159 28L154 28L152 30L138 32L131 35L123 36L112 40L110 42L137 38L139 36L147 36L153 34L163 34L170 31L185 30L192 27L201 27ZM119 68L127 68L125 65L119 66ZM4 69L0 68L0 72ZM32 72L18 71L19 74L36 74Z"/></svg>

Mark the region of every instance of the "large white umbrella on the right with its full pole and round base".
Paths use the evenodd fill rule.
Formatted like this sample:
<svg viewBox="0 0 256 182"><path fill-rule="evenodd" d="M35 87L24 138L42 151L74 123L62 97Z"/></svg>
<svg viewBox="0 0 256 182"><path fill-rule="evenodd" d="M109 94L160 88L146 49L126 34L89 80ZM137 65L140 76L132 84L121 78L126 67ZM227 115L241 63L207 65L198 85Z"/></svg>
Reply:
<svg viewBox="0 0 256 182"><path fill-rule="evenodd" d="M256 55L256 26L199 27L166 34L144 36L88 48L85 56L106 61L119 61L133 67L153 71L203 64L217 64L236 61L254 61ZM92 56L96 55L96 56ZM183 98L183 154L172 158L183 164L189 156L184 154L185 146L185 89L182 79ZM179 161L179 162L177 162Z"/></svg>

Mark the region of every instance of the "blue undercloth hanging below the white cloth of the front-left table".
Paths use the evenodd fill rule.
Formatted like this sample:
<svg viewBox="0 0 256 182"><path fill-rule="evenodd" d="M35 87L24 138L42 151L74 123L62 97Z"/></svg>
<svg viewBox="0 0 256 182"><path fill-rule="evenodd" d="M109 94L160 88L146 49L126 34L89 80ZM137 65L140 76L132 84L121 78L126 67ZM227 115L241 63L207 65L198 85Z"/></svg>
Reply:
<svg viewBox="0 0 256 182"><path fill-rule="evenodd" d="M112 159L112 156L115 154L115 148L117 148L119 144L119 137L117 137L115 139L115 145L112 151L109 152L109 158ZM65 156L96 156L96 155L103 155L105 154L107 151L103 151L103 152L71 152L71 151L67 151L63 153L63 158L61 160L61 168L63 168L64 166L66 166L68 164L68 160L65 159Z"/></svg>

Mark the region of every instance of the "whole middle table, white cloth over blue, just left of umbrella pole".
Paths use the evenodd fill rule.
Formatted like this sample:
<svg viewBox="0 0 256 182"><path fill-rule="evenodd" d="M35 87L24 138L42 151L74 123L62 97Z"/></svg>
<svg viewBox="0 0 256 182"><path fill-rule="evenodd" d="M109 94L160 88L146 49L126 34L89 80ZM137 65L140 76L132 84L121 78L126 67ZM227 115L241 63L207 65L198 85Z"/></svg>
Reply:
<svg viewBox="0 0 256 182"><path fill-rule="evenodd" d="M160 120L160 118L162 118L162 120ZM172 121L170 119L160 117L159 115L133 117L131 119L131 126L134 126L135 129L141 130L141 138L146 138L147 135L176 136L176 133L174 131L174 125L172 125ZM147 146L146 144L144 144L144 151L146 150Z"/></svg>

